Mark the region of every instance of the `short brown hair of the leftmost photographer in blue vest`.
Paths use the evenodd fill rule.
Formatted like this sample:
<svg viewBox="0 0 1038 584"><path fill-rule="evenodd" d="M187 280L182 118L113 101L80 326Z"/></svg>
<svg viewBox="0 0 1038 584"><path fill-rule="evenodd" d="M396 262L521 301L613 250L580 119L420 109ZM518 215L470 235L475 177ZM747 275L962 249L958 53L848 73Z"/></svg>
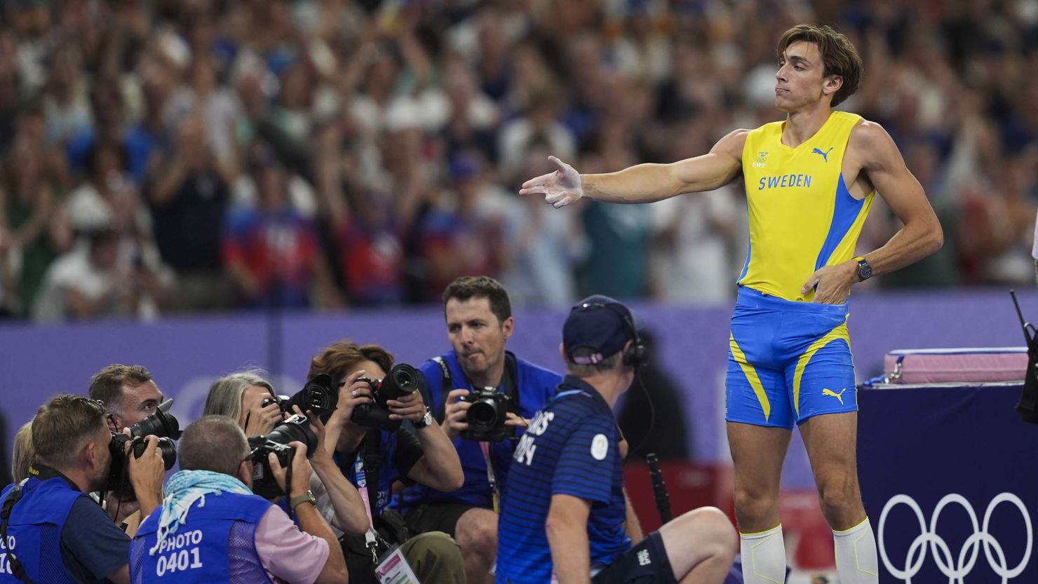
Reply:
<svg viewBox="0 0 1038 584"><path fill-rule="evenodd" d="M82 395L62 393L36 410L32 448L46 465L66 465L79 454L85 439L108 427L104 407Z"/></svg>

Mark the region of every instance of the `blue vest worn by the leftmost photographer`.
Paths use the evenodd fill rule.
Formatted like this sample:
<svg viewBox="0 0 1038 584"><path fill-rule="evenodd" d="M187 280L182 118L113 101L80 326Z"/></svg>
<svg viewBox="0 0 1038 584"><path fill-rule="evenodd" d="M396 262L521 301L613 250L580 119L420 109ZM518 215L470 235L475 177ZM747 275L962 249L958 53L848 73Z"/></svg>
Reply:
<svg viewBox="0 0 1038 584"><path fill-rule="evenodd" d="M13 489L8 484L0 501ZM36 584L76 584L61 560L61 528L80 497L87 495L69 486L63 478L25 481L10 512L7 540L0 546L0 584L23 584L11 574L8 552L15 553L26 576Z"/></svg>

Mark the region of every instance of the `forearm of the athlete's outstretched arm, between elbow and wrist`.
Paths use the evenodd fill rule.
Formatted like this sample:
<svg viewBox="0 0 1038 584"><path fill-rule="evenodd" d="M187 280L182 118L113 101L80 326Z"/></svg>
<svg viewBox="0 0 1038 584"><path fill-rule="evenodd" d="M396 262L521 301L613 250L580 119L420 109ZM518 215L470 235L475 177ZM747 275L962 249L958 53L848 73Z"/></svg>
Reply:
<svg viewBox="0 0 1038 584"><path fill-rule="evenodd" d="M602 202L655 202L687 192L665 164L639 164L607 174L581 174L585 197Z"/></svg>

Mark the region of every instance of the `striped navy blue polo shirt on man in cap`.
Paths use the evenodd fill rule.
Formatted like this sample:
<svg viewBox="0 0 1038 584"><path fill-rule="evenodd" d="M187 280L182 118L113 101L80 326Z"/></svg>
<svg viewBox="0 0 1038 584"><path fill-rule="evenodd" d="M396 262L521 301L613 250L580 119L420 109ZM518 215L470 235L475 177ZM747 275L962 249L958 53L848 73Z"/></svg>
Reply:
<svg viewBox="0 0 1038 584"><path fill-rule="evenodd" d="M544 524L552 495L592 503L592 565L610 564L630 549L624 532L620 441L617 420L602 395L579 378L566 377L513 455L497 524L498 584L545 584L551 579Z"/></svg>

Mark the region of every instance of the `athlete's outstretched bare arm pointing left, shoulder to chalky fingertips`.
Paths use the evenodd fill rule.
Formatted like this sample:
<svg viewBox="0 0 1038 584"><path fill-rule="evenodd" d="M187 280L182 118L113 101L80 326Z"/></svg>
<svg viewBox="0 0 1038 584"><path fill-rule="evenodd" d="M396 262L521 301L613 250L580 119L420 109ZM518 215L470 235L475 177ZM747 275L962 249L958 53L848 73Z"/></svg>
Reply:
<svg viewBox="0 0 1038 584"><path fill-rule="evenodd" d="M523 183L520 195L543 195L557 207L581 197L618 203L644 203L682 193L712 191L732 182L742 169L746 130L736 130L714 144L710 152L671 164L639 164L607 174L578 174L550 157L554 172Z"/></svg>

